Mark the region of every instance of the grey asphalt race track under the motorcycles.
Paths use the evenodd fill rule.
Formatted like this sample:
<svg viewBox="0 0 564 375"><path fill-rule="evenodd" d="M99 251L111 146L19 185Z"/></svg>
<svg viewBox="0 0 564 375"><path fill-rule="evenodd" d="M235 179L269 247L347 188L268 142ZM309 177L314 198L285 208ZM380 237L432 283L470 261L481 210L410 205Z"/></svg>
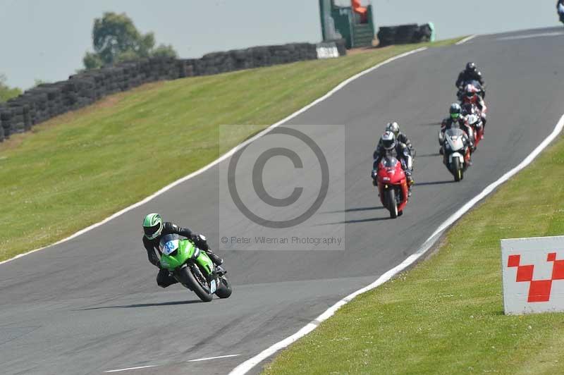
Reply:
<svg viewBox="0 0 564 375"><path fill-rule="evenodd" d="M221 165L78 238L1 264L0 372L100 374L156 366L127 373L226 374L295 333L417 251L442 221L551 133L564 112L560 30L482 36L407 56L290 121L345 125L344 133L321 128L309 133L336 150L328 161L343 160L345 170L332 176L335 185L312 221L293 229L296 235L308 230L328 237L344 234L345 250L219 251L234 285L228 300L202 303L178 285L159 288L140 228L145 214L159 211L165 219L205 233L214 248L220 247L224 230L248 235L259 230L221 215ZM489 123L474 166L461 183L452 183L436 154L436 133L455 100L458 72L471 60L486 78ZM369 180L372 151L393 119L417 149L417 185L397 220L388 219ZM295 168L287 160L272 163L269 171L278 173L265 173L266 190L284 197L296 183L280 176L303 176L291 175ZM303 185L304 199L309 199L311 186ZM243 200L255 194L245 188L239 192ZM295 216L301 209L298 205L284 214ZM223 355L238 356L188 362Z"/></svg>

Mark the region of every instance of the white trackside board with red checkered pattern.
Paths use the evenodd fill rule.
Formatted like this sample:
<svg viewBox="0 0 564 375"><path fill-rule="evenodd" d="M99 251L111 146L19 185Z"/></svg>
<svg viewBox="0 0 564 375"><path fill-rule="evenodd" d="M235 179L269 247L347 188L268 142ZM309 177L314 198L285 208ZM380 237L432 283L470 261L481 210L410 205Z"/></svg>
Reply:
<svg viewBox="0 0 564 375"><path fill-rule="evenodd" d="M505 314L564 311L564 236L501 240Z"/></svg>

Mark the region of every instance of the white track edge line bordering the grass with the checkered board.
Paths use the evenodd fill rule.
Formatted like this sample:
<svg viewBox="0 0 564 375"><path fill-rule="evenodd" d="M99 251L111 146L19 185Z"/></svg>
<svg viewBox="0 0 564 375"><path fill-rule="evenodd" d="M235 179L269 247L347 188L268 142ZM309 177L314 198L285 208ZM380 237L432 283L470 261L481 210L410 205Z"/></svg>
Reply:
<svg viewBox="0 0 564 375"><path fill-rule="evenodd" d="M452 216L446 219L446 221L443 222L429 238L427 238L427 240L423 243L423 245L419 247L419 250L417 250L417 252L407 257L407 259L401 262L401 264L395 266L393 269L384 273L376 281L374 281L374 283L367 285L364 288L359 289L356 292L351 293L350 295L344 297L342 300L338 301L335 305L329 307L329 309L326 309L326 311L323 314L317 316L316 319L310 321L306 326L301 328L300 331L294 333L292 336L289 336L284 340L278 341L278 343L275 343L274 345L271 345L271 347L266 348L262 352L259 352L259 354L255 355L255 357L247 359L242 364L239 364L238 367L235 367L235 369L233 369L229 373L229 375L246 374L247 371L257 366L257 364L264 361L264 359L270 357L271 355L274 355L274 353L277 352L278 350L286 348L288 345L295 342L295 340L298 340L299 338L302 338L303 336L307 335L307 333L313 331L315 328L317 328L317 326L322 321L329 319L329 317L335 314L335 312L339 308L341 308L341 306L346 305L348 302L350 302L350 300L353 300L353 298L356 297L357 295L360 295L361 293L367 292L368 290L372 290L378 287L379 285L386 283L386 281L390 280L397 273L403 271L408 266L412 265L415 261L417 261L417 259L419 259L423 254L425 254L431 248L431 246L434 245L436 240L438 240L441 237L441 233L443 233L443 231L446 230L448 226L452 225L455 221L460 219L460 216L462 216L468 210L470 210L474 206L474 204L477 204L477 202L484 199L486 195L489 195L491 192L493 192L496 189L496 187L498 187L502 183L505 183L505 181L513 177L517 172L521 171L523 168L531 164L534 158L536 158L542 152L542 150L546 148L546 146L548 146L556 137L558 137L558 135L562 131L562 128L564 128L564 115L560 117L560 121L558 121L552 133L548 135L548 137L546 137L541 142L541 144L537 146L537 148L534 149L531 152L531 154L529 154L529 156L527 156L523 161L521 161L519 165L511 169L508 173L505 173L503 176L498 178L498 180L496 180L494 183L488 185L476 197L472 198L469 202L467 202L467 204L462 206Z"/></svg>

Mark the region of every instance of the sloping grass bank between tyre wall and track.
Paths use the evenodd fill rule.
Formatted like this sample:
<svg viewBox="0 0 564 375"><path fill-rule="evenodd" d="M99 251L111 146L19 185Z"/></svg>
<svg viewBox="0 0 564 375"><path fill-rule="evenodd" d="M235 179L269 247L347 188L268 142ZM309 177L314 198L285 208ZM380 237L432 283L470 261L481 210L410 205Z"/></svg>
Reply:
<svg viewBox="0 0 564 375"><path fill-rule="evenodd" d="M266 128L355 73L421 46L157 82L14 135L0 145L0 261L138 202L251 134L233 133L220 149L219 125Z"/></svg>

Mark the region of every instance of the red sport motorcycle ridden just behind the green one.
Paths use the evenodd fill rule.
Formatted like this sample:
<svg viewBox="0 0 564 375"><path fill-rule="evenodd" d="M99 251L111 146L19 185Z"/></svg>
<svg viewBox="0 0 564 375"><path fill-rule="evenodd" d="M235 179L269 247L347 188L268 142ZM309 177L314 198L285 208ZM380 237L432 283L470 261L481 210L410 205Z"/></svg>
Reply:
<svg viewBox="0 0 564 375"><path fill-rule="evenodd" d="M409 189L400 161L393 156L382 159L376 172L376 181L380 200L390 211L390 218L396 219L402 216Z"/></svg>

